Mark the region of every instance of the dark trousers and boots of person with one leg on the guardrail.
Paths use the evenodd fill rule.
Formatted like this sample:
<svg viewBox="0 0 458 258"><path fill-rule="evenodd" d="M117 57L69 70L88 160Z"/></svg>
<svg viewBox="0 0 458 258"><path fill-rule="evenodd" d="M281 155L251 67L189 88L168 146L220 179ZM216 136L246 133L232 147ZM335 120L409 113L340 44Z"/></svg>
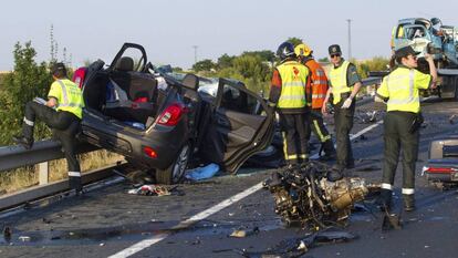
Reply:
<svg viewBox="0 0 458 258"><path fill-rule="evenodd" d="M66 111L55 111L49 106L35 103L33 101L25 104L25 118L35 122L35 118L43 121L53 130L54 136L61 142L69 172L80 174L80 163L75 155L75 135L80 128L80 118L73 113ZM33 138L33 125L23 123L23 136ZM82 189L81 174L74 176L69 174L69 184L71 188Z"/></svg>

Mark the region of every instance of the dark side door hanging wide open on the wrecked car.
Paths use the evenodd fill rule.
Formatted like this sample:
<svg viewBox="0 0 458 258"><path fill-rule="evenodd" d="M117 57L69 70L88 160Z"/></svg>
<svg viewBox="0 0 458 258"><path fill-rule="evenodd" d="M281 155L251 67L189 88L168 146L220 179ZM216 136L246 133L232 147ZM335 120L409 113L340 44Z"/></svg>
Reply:
<svg viewBox="0 0 458 258"><path fill-rule="evenodd" d="M273 109L261 96L241 82L219 79L201 155L236 173L251 155L270 144L273 120Z"/></svg>

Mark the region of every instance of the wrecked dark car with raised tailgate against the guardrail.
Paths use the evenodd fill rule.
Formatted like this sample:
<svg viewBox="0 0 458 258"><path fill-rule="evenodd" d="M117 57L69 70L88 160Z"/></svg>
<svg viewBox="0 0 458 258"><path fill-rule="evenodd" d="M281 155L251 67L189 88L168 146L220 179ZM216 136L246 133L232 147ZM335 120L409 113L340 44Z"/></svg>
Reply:
<svg viewBox="0 0 458 258"><path fill-rule="evenodd" d="M73 80L86 104L81 138L154 169L160 184L180 182L192 156L236 173L272 140L273 110L241 82L218 79L216 95L198 92L198 76L155 71L139 44L125 43L107 68L96 61Z"/></svg>

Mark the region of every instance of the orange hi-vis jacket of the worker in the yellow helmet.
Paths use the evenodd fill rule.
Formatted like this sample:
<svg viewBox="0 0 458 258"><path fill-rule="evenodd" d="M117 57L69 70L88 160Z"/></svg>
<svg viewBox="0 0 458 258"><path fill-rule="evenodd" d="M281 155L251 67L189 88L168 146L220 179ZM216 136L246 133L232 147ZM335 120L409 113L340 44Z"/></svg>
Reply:
<svg viewBox="0 0 458 258"><path fill-rule="evenodd" d="M312 78L312 109L321 109L327 92L327 78L323 68L311 59L305 62Z"/></svg>

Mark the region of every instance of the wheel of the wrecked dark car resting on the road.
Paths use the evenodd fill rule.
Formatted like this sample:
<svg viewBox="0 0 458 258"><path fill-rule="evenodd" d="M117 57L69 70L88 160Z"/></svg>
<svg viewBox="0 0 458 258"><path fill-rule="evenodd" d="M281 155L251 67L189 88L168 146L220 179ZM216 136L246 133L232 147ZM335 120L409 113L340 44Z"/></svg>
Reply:
<svg viewBox="0 0 458 258"><path fill-rule="evenodd" d="M190 144L183 145L178 152L178 156L175 162L171 163L166 169L156 169L156 182L158 184L173 185L179 183L185 176L185 171L188 165L190 156Z"/></svg>

